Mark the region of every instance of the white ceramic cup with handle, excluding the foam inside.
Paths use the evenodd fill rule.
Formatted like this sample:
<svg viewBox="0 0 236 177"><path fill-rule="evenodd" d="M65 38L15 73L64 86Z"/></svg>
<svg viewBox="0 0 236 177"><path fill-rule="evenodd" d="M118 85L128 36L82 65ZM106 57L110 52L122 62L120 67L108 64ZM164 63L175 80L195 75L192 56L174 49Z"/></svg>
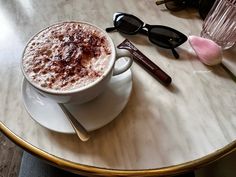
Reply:
<svg viewBox="0 0 236 177"><path fill-rule="evenodd" d="M61 23L68 23L68 22L61 22ZM30 85L32 85L35 90L37 92L39 92L41 95L51 98L54 101L58 102L58 103L71 103L71 102L76 102L76 103L85 103L88 102L94 98L96 98L98 95L100 95L103 91L105 91L111 77L118 75L118 74L122 74L123 72L125 72L126 70L128 70L131 65L132 65L132 58L131 55L128 51L126 50L122 50L122 49L118 49L116 51L116 48L114 46L114 43L112 41L112 39L110 38L110 36L101 28L92 25L90 23L87 22L71 22L71 23L80 23L80 24L86 24L86 25L90 25L93 28L96 28L97 30L101 31L106 39L109 41L110 47L111 47L111 56L110 56L110 61L109 64L105 70L105 72L94 82L89 83L88 85L82 86L82 87L78 87L72 90L53 90L53 89L46 89L44 87L39 86L39 84L36 84L34 82L31 81L31 79L29 78L29 76L27 75L27 73L24 71L23 68L23 57L25 54L25 49L28 46L28 44L30 43L30 41L32 39L34 39L34 37L39 34L40 32L44 31L45 29L52 27L54 25L51 25L43 30L41 30L39 33L37 33L36 35L34 35L29 42L27 43L24 51L23 51L23 55L22 55L22 61L21 61L21 69L24 75L24 78L30 83ZM60 23L59 23L60 24ZM124 64L122 67L116 68L115 67L115 63L117 60L126 57L126 64Z"/></svg>

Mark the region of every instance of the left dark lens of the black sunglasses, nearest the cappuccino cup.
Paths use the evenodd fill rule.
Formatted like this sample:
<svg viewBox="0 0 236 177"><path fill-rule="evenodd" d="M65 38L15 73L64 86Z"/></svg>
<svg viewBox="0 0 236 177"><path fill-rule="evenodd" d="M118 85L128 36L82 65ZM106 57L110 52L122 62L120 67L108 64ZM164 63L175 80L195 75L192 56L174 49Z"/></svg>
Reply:
<svg viewBox="0 0 236 177"><path fill-rule="evenodd" d="M115 21L116 29L125 34L137 32L142 25L139 19L129 15L119 15Z"/></svg>

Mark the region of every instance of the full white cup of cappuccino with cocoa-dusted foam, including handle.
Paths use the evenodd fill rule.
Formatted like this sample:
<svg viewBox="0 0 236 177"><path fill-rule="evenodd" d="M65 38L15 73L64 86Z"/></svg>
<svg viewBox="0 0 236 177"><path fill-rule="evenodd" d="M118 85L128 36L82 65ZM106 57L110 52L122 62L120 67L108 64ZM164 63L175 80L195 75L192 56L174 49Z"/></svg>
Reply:
<svg viewBox="0 0 236 177"><path fill-rule="evenodd" d="M122 67L118 59L128 57ZM116 52L109 35L87 22L61 22L34 35L21 61L25 79L37 92L58 103L84 103L96 98L114 75L132 65Z"/></svg>

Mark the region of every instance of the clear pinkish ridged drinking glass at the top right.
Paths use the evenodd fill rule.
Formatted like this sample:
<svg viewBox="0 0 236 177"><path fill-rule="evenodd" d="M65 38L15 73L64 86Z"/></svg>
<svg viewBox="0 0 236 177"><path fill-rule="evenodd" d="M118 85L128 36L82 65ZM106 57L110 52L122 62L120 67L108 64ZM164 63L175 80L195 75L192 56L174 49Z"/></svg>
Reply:
<svg viewBox="0 0 236 177"><path fill-rule="evenodd" d="M236 0L216 0L203 22L201 36L228 49L236 42Z"/></svg>

